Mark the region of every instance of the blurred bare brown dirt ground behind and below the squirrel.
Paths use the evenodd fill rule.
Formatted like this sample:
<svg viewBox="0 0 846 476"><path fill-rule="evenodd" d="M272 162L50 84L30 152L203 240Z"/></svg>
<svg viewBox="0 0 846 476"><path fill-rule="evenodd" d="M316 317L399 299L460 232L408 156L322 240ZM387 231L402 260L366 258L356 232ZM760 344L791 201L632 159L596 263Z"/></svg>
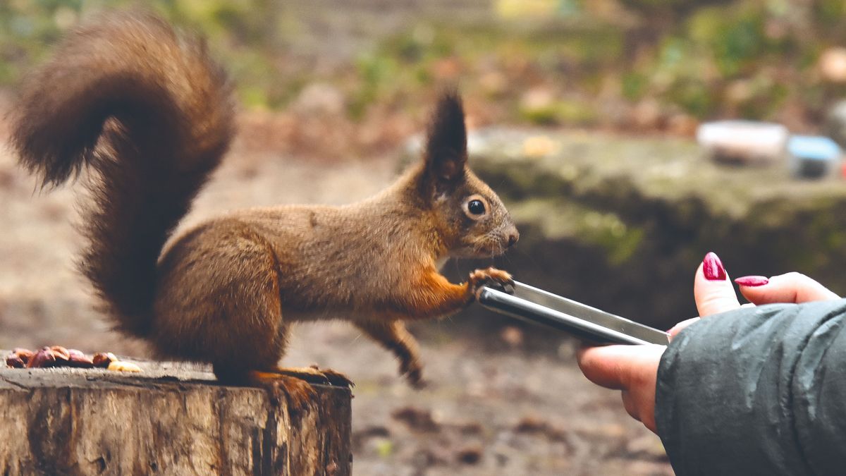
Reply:
<svg viewBox="0 0 846 476"><path fill-rule="evenodd" d="M390 154L327 162L244 144L186 224L231 208L349 202L396 173ZM11 153L0 152L0 348L61 344L144 356L142 343L113 333L91 309L87 284L74 271L79 191L40 192ZM351 326L294 328L285 363L335 368L356 383L354 473L672 474L660 440L625 414L618 392L582 377L572 340L536 346L517 328L470 329L460 321L412 328L430 382L419 391L398 378L387 351Z"/></svg>

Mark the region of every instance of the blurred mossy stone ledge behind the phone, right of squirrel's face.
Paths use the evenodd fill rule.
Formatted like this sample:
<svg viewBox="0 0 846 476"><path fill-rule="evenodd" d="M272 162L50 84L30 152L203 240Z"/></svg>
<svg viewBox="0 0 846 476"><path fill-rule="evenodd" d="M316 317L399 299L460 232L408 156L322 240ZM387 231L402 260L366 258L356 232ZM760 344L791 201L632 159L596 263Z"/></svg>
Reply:
<svg viewBox="0 0 846 476"><path fill-rule="evenodd" d="M580 131L482 130L470 164L520 230L497 265L609 312L659 327L695 316L709 251L733 277L800 271L846 292L843 179L721 165L685 139Z"/></svg>

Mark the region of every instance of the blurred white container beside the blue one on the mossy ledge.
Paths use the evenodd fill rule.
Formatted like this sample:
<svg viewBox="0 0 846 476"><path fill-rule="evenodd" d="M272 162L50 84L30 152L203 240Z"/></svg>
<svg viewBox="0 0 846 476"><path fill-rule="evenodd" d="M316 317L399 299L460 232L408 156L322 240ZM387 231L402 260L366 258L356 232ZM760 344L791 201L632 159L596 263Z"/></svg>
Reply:
<svg viewBox="0 0 846 476"><path fill-rule="evenodd" d="M721 162L774 163L784 158L788 129L780 124L750 120L706 122L696 141Z"/></svg>

